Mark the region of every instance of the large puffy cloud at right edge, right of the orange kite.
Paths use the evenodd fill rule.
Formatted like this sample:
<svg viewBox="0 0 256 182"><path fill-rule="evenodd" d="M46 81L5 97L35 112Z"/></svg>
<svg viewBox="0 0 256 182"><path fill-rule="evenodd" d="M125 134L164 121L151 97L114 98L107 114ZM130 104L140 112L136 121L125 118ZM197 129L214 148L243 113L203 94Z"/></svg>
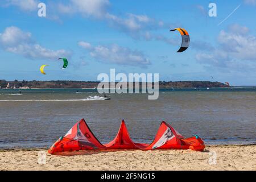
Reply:
<svg viewBox="0 0 256 182"><path fill-rule="evenodd" d="M247 32L249 28L238 24L230 26L228 31L221 30L214 51L197 53L196 60L201 64L232 69L256 65L256 38Z"/></svg>

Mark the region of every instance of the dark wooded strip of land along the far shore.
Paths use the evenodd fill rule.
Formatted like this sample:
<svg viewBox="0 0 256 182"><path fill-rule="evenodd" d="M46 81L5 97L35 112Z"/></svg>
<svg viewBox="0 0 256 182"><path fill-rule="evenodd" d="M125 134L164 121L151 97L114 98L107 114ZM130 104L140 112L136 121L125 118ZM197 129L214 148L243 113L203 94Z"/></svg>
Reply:
<svg viewBox="0 0 256 182"><path fill-rule="evenodd" d="M97 88L98 81L6 81L0 80L0 88L47 89L47 88ZM141 85L141 82L140 82ZM153 83L154 85L154 83ZM221 82L211 81L159 81L159 88L224 88ZM109 85L110 88L110 85Z"/></svg>

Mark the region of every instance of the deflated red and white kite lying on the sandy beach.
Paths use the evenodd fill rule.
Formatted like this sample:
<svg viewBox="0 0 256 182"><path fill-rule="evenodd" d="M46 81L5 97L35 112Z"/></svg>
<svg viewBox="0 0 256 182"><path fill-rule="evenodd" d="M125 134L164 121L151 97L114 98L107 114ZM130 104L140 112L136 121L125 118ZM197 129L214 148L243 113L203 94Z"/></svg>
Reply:
<svg viewBox="0 0 256 182"><path fill-rule="evenodd" d="M205 148L203 140L197 135L191 138L184 138L166 122L162 122L155 139L151 144L135 143L131 140L127 131L125 121L122 121L117 136L108 144L101 144L90 131L84 119L77 122L68 133L57 140L49 154L60 154L64 151L79 150L110 150L110 149L191 149L203 151Z"/></svg>

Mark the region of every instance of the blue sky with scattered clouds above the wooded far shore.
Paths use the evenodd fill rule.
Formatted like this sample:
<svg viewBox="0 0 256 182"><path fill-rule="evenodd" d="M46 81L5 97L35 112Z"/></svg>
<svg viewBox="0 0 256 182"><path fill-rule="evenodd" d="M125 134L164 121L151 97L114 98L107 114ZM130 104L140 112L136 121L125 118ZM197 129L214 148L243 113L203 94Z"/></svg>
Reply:
<svg viewBox="0 0 256 182"><path fill-rule="evenodd" d="M40 2L46 17L38 16ZM162 81L256 85L255 17L256 0L1 0L0 79L97 81L114 68ZM191 38L182 53L179 32L170 32L177 27Z"/></svg>

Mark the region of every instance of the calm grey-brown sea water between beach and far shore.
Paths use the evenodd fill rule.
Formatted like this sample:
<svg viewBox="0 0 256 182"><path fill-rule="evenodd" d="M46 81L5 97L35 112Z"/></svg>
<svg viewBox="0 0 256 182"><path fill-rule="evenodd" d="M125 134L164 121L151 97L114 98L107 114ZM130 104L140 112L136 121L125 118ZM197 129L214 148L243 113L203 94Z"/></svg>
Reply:
<svg viewBox="0 0 256 182"><path fill-rule="evenodd" d="M199 135L207 144L256 141L256 89L160 89L147 94L108 94L94 89L0 90L0 148L51 146L81 118L96 137L109 142L125 119L131 138L151 142L161 121L184 137ZM89 96L92 96L89 98Z"/></svg>

